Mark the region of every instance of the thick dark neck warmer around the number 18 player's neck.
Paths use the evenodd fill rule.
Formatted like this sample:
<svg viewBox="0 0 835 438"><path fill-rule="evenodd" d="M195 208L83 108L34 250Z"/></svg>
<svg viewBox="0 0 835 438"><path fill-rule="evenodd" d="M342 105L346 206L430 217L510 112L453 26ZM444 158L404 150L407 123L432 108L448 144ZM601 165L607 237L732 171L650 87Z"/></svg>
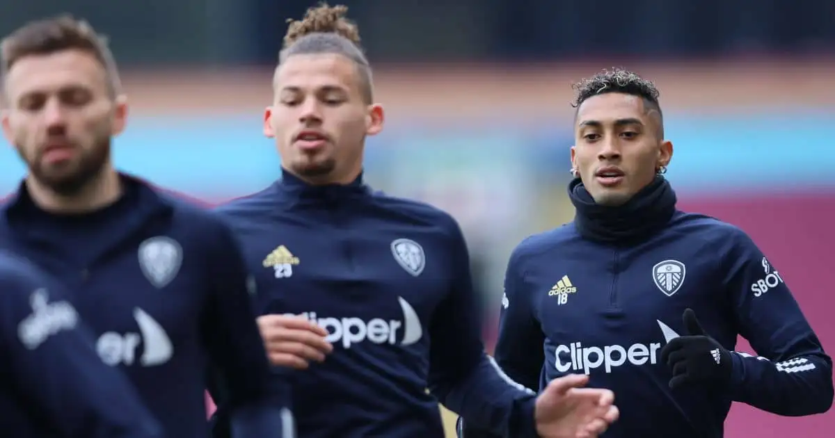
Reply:
<svg viewBox="0 0 835 438"><path fill-rule="evenodd" d="M574 227L585 239L604 244L629 245L657 233L676 213L676 192L658 176L623 205L595 203L578 178L569 184L574 204Z"/></svg>

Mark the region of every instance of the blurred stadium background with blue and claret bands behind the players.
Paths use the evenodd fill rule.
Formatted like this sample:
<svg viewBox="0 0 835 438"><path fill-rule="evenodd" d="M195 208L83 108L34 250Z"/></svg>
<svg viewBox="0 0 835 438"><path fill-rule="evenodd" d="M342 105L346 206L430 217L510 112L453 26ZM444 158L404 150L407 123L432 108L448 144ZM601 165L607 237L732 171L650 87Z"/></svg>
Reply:
<svg viewBox="0 0 835 438"><path fill-rule="evenodd" d="M569 221L570 83L622 66L654 79L676 145L683 209L741 226L792 284L835 351L835 3L826 0L356 0L387 129L367 180L463 224L493 340L504 264L528 234ZM34 0L0 31L61 12L111 38L133 118L121 169L200 199L261 189L279 159L261 137L285 18L304 0ZM24 174L0 149L0 192ZM747 348L747 345L743 343ZM450 417L451 418L451 417ZM730 438L827 438L835 414L734 405Z"/></svg>

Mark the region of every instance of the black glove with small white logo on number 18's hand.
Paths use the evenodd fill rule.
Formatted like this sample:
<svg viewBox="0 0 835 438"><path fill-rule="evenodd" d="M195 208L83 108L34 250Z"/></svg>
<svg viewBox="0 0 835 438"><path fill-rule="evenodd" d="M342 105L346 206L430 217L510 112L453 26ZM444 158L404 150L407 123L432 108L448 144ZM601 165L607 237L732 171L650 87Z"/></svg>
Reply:
<svg viewBox="0 0 835 438"><path fill-rule="evenodd" d="M686 382L725 385L731 380L731 353L711 338L696 320L696 312L686 309L682 316L686 336L671 340L661 349L661 362L673 372L670 387Z"/></svg>

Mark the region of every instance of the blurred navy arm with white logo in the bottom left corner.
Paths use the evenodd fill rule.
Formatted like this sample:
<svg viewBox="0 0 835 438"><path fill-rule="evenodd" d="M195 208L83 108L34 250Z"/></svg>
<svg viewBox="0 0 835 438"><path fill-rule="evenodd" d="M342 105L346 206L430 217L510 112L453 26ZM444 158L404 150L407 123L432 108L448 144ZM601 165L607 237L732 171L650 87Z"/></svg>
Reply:
<svg viewBox="0 0 835 438"><path fill-rule="evenodd" d="M0 344L23 404L61 436L161 437L127 378L99 358L73 306L41 285L0 271Z"/></svg>

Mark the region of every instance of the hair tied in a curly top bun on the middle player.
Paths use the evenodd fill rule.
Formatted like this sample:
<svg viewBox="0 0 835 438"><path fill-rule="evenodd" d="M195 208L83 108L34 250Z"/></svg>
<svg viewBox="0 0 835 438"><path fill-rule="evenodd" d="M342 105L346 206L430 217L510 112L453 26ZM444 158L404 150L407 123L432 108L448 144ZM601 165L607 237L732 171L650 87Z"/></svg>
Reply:
<svg viewBox="0 0 835 438"><path fill-rule="evenodd" d="M290 25L279 53L279 65L292 55L336 53L351 59L360 76L360 92L366 103L373 101L371 64L362 46L357 23L345 17L347 6L328 6L321 3L308 8L300 21L287 20Z"/></svg>

